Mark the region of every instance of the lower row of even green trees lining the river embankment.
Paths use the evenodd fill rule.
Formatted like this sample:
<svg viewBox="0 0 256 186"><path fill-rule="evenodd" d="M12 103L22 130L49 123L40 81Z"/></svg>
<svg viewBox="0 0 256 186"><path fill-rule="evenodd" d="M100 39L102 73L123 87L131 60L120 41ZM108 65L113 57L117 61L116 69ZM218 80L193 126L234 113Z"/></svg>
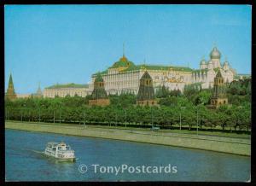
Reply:
<svg viewBox="0 0 256 186"><path fill-rule="evenodd" d="M41 122L65 122L96 125L161 125L172 128L186 125L189 130L222 128L247 130L251 128L251 104L221 106L210 110L202 103L195 105L186 97L170 96L160 100L160 107L135 106L136 96L111 96L108 107L89 107L85 97L55 99L18 99L6 101L6 119ZM170 101L170 102L168 102Z"/></svg>

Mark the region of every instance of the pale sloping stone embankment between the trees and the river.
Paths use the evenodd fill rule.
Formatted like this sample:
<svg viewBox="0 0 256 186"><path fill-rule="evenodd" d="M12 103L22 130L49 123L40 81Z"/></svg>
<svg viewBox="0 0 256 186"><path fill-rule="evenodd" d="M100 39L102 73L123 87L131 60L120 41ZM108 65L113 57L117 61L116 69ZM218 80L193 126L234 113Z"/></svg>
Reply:
<svg viewBox="0 0 256 186"><path fill-rule="evenodd" d="M214 137L195 134L177 134L161 131L139 131L100 128L92 125L51 125L44 123L5 122L5 128L39 131L80 137L100 137L131 142L147 142L183 148L197 148L222 153L251 155L251 140L236 137Z"/></svg>

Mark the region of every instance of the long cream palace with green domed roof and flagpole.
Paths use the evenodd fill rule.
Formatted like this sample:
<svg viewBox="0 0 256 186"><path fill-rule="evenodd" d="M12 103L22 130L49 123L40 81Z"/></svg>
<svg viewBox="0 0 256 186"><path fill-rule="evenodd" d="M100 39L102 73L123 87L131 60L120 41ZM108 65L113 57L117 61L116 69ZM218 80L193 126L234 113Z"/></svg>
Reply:
<svg viewBox="0 0 256 186"><path fill-rule="evenodd" d="M191 78L192 69L189 67L135 65L123 55L119 61L101 74L108 94L137 94L140 78L146 71L153 79L154 91L163 84L170 90L183 90L184 84ZM94 82L95 78L96 74L93 74L91 82ZM93 84L90 84L89 89L93 89Z"/></svg>

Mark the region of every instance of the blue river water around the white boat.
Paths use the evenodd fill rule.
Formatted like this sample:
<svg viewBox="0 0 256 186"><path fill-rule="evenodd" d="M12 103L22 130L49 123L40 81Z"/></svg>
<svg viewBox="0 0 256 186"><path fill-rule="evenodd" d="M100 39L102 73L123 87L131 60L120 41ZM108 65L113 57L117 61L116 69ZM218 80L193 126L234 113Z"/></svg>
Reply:
<svg viewBox="0 0 256 186"><path fill-rule="evenodd" d="M61 141L75 150L78 160L52 160L42 154L47 142ZM250 167L250 157L234 154L5 130L6 181L246 182Z"/></svg>

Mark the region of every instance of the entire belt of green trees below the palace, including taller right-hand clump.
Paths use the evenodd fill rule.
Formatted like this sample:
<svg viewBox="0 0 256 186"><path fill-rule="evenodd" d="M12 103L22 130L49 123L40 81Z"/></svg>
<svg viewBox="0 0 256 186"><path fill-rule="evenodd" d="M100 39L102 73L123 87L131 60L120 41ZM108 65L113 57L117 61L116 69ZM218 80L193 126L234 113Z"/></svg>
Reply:
<svg viewBox="0 0 256 186"><path fill-rule="evenodd" d="M140 107L137 96L131 94L109 96L107 107L89 107L90 96L26 98L5 101L5 119L73 123L84 125L116 125L161 129L250 131L251 129L250 79L232 82L227 90L230 105L208 109L212 90L186 87L183 95L178 91L161 89L156 92L160 107Z"/></svg>

